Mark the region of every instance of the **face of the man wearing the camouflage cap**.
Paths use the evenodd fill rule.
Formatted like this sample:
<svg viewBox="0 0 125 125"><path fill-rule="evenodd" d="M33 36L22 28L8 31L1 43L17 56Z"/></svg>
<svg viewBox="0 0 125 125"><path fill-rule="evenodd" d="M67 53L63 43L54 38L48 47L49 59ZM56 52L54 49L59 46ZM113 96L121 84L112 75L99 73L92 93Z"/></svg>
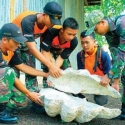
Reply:
<svg viewBox="0 0 125 125"><path fill-rule="evenodd" d="M95 26L95 32L99 35L105 35L108 32L108 24L105 20L100 21Z"/></svg>

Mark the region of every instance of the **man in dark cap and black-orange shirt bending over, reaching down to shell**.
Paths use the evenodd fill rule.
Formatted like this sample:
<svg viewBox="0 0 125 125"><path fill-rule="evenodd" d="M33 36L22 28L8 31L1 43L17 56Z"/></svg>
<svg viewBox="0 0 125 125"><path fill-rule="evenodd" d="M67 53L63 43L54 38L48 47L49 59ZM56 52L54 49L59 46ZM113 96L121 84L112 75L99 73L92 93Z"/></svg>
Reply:
<svg viewBox="0 0 125 125"><path fill-rule="evenodd" d="M35 67L35 58L45 64L54 77L61 75L60 69L50 63L36 48L35 39L42 37L45 30L53 25L61 24L62 8L56 2L49 2L43 8L43 13L23 12L19 14L12 23L16 24L28 41L21 45L19 55L23 62L31 67ZM26 87L30 91L38 91L36 77L26 75Z"/></svg>

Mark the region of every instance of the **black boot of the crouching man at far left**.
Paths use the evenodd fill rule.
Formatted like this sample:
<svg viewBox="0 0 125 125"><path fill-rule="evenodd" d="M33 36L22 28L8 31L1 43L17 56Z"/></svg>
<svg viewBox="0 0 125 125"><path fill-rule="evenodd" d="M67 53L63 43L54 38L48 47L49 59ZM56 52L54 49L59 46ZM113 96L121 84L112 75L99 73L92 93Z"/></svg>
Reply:
<svg viewBox="0 0 125 125"><path fill-rule="evenodd" d="M0 123L5 124L14 124L17 123L18 118L16 116L11 115L6 110L6 104L0 104Z"/></svg>

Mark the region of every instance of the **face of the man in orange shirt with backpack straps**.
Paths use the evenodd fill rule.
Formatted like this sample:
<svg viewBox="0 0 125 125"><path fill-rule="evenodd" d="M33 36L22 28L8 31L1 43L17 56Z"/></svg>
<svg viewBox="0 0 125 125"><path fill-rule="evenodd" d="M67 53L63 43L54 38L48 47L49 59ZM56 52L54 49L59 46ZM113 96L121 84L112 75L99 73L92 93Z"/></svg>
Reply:
<svg viewBox="0 0 125 125"><path fill-rule="evenodd" d="M91 36L86 36L84 38L80 37L80 39L81 46L85 52L93 51L94 47L96 46L96 42Z"/></svg>

